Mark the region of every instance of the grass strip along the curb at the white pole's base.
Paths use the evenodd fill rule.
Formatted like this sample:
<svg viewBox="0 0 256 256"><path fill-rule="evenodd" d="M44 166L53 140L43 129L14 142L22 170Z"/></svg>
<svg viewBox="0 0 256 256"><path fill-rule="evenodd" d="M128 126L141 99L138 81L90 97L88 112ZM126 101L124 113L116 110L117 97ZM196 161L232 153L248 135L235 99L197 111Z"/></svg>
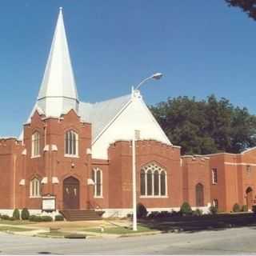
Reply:
<svg viewBox="0 0 256 256"><path fill-rule="evenodd" d="M136 234L136 233L150 232L150 231L155 231L155 230L152 230L146 226L138 226L138 230L134 231L134 230L132 230L130 228L126 228L124 226L117 226L117 227L106 227L106 228L104 228L104 232L101 232L100 228L86 229L84 231L105 233L105 234Z"/></svg>

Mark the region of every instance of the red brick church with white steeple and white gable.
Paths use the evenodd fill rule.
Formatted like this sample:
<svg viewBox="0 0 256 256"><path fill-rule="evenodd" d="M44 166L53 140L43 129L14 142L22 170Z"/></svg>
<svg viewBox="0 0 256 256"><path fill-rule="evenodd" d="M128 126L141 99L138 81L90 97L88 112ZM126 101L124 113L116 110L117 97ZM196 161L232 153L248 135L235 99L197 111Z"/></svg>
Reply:
<svg viewBox="0 0 256 256"><path fill-rule="evenodd" d="M137 202L148 211L182 202L230 211L255 202L256 149L242 154L180 154L138 90L104 102L82 102L74 80L62 10L34 108L19 138L0 138L0 213L24 207L132 212L132 146ZM46 208L44 208L46 207Z"/></svg>

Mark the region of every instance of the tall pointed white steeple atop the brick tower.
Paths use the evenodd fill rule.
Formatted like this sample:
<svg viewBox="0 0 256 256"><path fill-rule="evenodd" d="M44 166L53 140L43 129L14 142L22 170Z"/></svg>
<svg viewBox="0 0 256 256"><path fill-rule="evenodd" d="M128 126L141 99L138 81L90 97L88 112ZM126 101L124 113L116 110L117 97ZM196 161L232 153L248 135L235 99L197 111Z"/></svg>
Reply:
<svg viewBox="0 0 256 256"><path fill-rule="evenodd" d="M62 7L60 7L37 106L46 117L59 117L71 109L78 112L78 104L78 92L66 40Z"/></svg>

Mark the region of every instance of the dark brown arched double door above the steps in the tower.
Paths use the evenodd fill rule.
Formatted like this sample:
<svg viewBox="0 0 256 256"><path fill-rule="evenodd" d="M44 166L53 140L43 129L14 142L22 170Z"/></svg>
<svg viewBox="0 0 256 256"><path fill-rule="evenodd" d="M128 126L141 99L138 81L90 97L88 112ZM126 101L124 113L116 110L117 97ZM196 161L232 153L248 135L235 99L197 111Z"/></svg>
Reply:
<svg viewBox="0 0 256 256"><path fill-rule="evenodd" d="M63 182L63 208L79 209L79 181L74 177Z"/></svg>

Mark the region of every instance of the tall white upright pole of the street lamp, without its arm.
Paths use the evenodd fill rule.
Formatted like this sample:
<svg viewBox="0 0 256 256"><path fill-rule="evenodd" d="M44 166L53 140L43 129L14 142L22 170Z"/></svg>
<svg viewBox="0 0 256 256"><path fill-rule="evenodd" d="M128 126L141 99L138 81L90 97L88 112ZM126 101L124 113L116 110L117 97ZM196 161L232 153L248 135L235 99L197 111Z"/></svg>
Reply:
<svg viewBox="0 0 256 256"><path fill-rule="evenodd" d="M132 141L132 158L133 158L133 230L137 231L137 198L136 198L136 152L135 152L135 131Z"/></svg>

